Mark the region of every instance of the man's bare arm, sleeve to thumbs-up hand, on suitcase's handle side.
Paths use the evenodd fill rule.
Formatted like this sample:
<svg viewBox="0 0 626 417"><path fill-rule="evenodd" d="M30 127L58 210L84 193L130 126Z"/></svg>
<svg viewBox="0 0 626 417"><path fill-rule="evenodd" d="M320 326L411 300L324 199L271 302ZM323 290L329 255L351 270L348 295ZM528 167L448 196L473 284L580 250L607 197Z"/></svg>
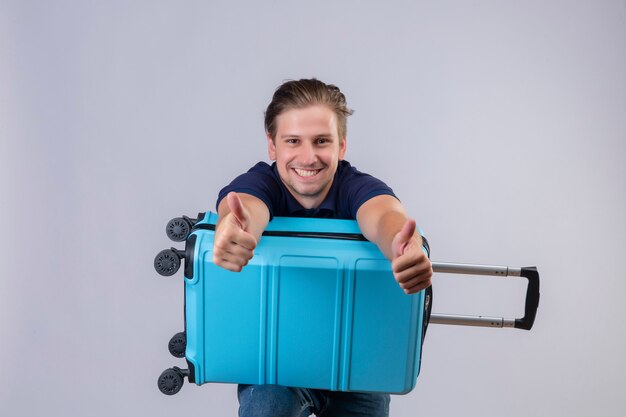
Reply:
<svg viewBox="0 0 626 417"><path fill-rule="evenodd" d="M395 197L379 195L366 201L356 218L363 235L391 261L393 275L405 293L431 285L433 269L422 250L422 237L415 231L415 220L406 216Z"/></svg>

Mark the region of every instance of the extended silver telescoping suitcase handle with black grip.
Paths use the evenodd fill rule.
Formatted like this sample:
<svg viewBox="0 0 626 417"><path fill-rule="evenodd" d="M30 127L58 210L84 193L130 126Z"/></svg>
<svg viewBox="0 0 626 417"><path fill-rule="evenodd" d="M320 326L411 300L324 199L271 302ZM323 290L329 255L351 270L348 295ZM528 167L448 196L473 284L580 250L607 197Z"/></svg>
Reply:
<svg viewBox="0 0 626 417"><path fill-rule="evenodd" d="M505 319L503 317L460 316L450 314L432 314L430 323L453 324L460 326L480 327L513 327L530 330L537 316L539 307L539 271L537 268L509 268L508 266L470 265L447 262L433 262L433 272L467 275L493 275L502 277L523 277L528 279L526 288L526 306L521 319Z"/></svg>

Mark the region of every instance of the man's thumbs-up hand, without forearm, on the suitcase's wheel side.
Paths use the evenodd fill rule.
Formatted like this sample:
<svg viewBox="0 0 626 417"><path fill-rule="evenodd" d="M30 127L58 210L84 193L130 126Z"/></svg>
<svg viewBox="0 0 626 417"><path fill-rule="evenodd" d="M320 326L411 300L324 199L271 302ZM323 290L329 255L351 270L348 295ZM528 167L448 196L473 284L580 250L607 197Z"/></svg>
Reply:
<svg viewBox="0 0 626 417"><path fill-rule="evenodd" d="M226 196L229 212L218 222L213 242L213 263L240 272L254 256L257 239L250 232L251 215L237 193Z"/></svg>

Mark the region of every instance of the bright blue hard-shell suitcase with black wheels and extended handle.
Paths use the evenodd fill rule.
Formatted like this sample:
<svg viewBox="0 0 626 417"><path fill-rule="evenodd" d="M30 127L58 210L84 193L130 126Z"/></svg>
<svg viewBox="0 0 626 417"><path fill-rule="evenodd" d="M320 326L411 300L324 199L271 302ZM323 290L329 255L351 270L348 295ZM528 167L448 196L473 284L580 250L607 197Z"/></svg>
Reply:
<svg viewBox="0 0 626 417"><path fill-rule="evenodd" d="M172 219L166 231L185 250L161 251L161 275L184 260L185 331L170 352L188 369L164 371L158 386L177 393L183 378L404 394L420 370L430 322L530 328L536 305L529 278L523 319L430 317L431 289L406 295L390 262L353 220L274 218L242 272L213 264L217 215ZM427 243L425 251L428 251ZM533 268L437 264L442 272L533 275ZM503 269L503 268L506 268ZM524 271L522 271L524 270ZM519 272L519 274L518 274ZM536 277L538 303L538 275ZM530 299L530 305L529 305ZM430 319L430 320L429 320Z"/></svg>

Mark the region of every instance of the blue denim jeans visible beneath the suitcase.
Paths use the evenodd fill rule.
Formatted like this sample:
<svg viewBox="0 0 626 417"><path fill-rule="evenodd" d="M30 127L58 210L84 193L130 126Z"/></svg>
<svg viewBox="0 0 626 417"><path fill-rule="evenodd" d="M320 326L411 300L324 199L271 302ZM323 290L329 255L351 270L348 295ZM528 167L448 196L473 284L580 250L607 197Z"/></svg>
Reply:
<svg viewBox="0 0 626 417"><path fill-rule="evenodd" d="M239 385L239 417L388 417L389 395Z"/></svg>

